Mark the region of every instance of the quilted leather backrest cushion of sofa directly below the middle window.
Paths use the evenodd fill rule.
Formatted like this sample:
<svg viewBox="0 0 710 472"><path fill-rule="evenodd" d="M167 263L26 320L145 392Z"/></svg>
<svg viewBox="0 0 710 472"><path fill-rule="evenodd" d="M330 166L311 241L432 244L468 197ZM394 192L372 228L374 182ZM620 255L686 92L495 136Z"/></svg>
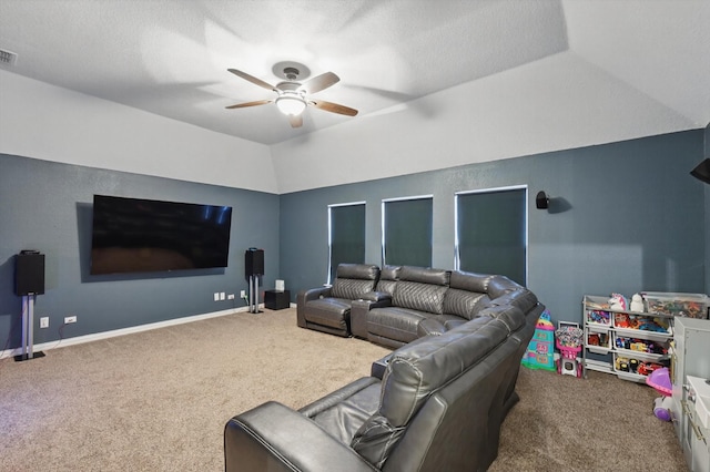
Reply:
<svg viewBox="0 0 710 472"><path fill-rule="evenodd" d="M445 269L405 266L392 294L396 307L442 315L450 273Z"/></svg>

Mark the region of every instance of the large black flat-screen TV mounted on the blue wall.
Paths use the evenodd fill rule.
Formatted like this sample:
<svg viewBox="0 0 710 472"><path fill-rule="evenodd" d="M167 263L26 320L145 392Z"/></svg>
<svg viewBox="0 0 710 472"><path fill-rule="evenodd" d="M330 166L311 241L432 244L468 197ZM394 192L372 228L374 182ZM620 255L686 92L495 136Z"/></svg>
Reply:
<svg viewBox="0 0 710 472"><path fill-rule="evenodd" d="M226 267L232 207L93 196L90 274Z"/></svg>

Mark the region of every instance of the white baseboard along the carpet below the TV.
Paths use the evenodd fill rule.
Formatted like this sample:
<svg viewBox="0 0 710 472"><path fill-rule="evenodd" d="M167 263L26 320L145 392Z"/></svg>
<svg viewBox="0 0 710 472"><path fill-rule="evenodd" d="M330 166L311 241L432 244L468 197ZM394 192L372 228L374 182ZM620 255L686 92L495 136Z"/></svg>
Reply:
<svg viewBox="0 0 710 472"><path fill-rule="evenodd" d="M292 304L293 305L293 304ZM260 308L264 308L263 304L260 304ZM98 341L101 339L115 338L116 336L133 335L135 332L150 331L151 329L166 328L169 326L184 325L186 322L201 321L203 319L217 318L226 315L234 315L237 312L248 312L248 307L232 308L229 310L213 311L209 314L187 316L184 318L168 319L165 321L149 322L148 325L132 326L130 328L114 329L111 331L94 332L92 335L77 336L73 338L64 338L54 341L41 342L32 346L34 352L47 351L51 349L65 348L67 346L81 345L84 342ZM0 359L7 357L20 356L22 348L8 349L0 351Z"/></svg>

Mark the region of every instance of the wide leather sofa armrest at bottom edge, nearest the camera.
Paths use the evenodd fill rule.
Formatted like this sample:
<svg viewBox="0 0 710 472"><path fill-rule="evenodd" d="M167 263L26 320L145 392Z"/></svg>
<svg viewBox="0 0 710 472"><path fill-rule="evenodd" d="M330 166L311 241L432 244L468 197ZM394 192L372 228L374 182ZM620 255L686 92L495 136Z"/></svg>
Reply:
<svg viewBox="0 0 710 472"><path fill-rule="evenodd" d="M377 469L308 418L270 401L226 423L224 470L372 472Z"/></svg>

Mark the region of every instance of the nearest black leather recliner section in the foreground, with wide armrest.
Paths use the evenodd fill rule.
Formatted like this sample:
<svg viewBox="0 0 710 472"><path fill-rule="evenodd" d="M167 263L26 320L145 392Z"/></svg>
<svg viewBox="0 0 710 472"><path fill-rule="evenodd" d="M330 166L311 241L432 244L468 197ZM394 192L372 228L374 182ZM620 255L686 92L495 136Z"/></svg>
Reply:
<svg viewBox="0 0 710 472"><path fill-rule="evenodd" d="M225 427L225 470L485 471L527 321L515 306L491 307L397 349L382 380L362 378L300 411L267 402L239 414Z"/></svg>

